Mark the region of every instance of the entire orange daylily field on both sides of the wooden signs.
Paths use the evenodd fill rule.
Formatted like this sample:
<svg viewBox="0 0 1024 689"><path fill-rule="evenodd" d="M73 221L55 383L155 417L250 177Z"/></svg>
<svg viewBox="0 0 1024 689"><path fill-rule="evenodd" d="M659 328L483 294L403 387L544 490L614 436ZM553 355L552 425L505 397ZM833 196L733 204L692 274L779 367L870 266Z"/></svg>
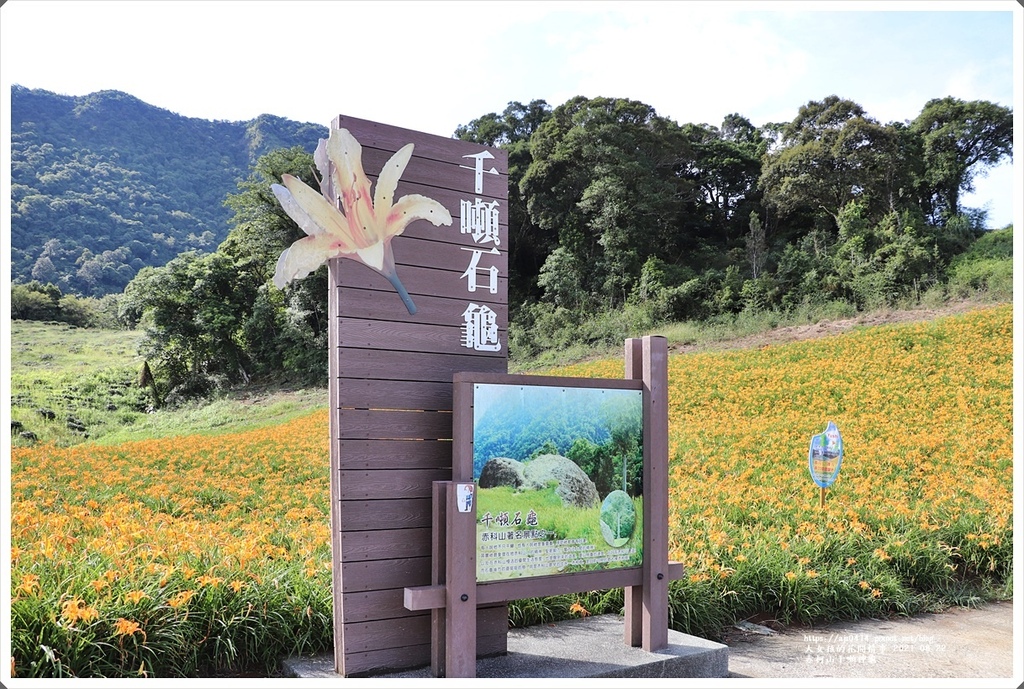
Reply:
<svg viewBox="0 0 1024 689"><path fill-rule="evenodd" d="M912 613L1009 591L1012 324L1007 304L670 357L670 557L687 567L672 626L714 636L756 614ZM545 373L621 378L623 362ZM829 420L845 455L820 508L807 450ZM13 448L13 674L271 672L330 649L327 426L321 410L255 431Z"/></svg>

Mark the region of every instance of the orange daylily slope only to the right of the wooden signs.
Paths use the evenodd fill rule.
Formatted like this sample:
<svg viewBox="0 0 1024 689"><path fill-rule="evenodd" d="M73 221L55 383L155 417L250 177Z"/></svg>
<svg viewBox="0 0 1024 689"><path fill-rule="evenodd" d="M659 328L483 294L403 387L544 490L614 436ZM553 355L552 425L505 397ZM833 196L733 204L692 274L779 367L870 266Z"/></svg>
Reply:
<svg viewBox="0 0 1024 689"><path fill-rule="evenodd" d="M671 556L691 572L673 598L675 623L913 613L988 585L1009 595L1012 350L1005 304L673 356ZM807 454L828 421L845 458L820 509Z"/></svg>

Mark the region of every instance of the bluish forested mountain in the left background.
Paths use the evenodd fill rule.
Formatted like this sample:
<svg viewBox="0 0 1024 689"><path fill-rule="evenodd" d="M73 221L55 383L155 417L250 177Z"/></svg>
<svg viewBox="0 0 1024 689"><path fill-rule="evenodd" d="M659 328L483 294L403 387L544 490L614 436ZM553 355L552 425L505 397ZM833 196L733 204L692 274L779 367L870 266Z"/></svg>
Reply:
<svg viewBox="0 0 1024 689"><path fill-rule="evenodd" d="M11 278L121 292L144 266L214 251L256 160L312 152L321 125L186 118L119 91L11 91Z"/></svg>

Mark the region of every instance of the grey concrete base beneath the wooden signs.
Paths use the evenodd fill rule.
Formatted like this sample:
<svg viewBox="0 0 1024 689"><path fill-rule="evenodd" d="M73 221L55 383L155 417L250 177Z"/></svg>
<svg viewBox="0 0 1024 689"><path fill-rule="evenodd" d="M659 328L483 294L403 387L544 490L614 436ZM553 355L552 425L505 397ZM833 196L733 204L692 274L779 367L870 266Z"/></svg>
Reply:
<svg viewBox="0 0 1024 689"><path fill-rule="evenodd" d="M669 630L669 646L648 653L623 642L623 618L597 615L553 625L509 630L506 655L480 658L481 679L728 677L729 647ZM289 658L290 677L334 677L334 656ZM429 678L430 668L375 675L379 678Z"/></svg>

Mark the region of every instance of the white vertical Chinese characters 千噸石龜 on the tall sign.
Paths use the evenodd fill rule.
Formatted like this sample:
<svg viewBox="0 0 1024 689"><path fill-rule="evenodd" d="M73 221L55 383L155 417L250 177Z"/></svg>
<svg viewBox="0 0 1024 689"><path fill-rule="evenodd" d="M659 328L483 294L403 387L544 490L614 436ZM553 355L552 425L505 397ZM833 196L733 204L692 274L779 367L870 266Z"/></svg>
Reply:
<svg viewBox="0 0 1024 689"><path fill-rule="evenodd" d="M459 167L472 170L474 173L473 190L475 193L483 193L483 176L485 174L497 175L498 170L492 167L484 170L483 164L487 159L494 158L490 153L483 150L474 155L463 156L463 158L473 159L472 167L460 165ZM473 243L483 247L492 245L489 248L469 248L462 247L463 251L469 252L469 262L466 271L461 277L466 281L466 291L473 293L477 290L486 290L489 294L498 294L498 266L493 264L493 256L499 256L501 252L501 236L498 225L498 202L484 202L479 197L473 200L460 200L460 231L472 238ZM502 345L498 339L498 314L485 304L470 302L466 310L462 313L462 346L474 351L501 351Z"/></svg>

